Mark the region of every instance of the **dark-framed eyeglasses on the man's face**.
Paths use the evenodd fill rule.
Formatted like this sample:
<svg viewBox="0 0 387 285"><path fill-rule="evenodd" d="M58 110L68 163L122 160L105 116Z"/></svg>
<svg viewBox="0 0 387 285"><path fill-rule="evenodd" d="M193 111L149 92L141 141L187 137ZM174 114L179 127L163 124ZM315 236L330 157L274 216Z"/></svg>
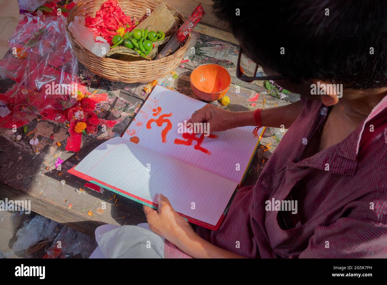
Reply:
<svg viewBox="0 0 387 285"><path fill-rule="evenodd" d="M262 66L243 54L242 48L239 50L238 63L236 64L236 77L246 82L292 78L291 76L267 76Z"/></svg>

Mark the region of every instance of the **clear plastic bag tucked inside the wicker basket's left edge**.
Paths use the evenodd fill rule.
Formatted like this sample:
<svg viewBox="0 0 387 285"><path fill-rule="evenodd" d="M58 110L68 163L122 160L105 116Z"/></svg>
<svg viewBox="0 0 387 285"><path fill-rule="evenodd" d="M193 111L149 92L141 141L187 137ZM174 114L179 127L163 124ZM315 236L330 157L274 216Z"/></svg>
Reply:
<svg viewBox="0 0 387 285"><path fill-rule="evenodd" d="M85 27L84 17L74 17L74 20L68 25L68 30L81 45L90 50L93 54L103 57L110 51L108 43L96 43L91 29Z"/></svg>

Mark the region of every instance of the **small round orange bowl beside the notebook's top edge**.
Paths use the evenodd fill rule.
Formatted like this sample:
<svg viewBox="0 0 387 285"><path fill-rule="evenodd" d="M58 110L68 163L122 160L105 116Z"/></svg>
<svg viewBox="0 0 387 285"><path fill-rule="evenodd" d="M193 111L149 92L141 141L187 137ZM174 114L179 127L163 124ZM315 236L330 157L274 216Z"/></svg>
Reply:
<svg viewBox="0 0 387 285"><path fill-rule="evenodd" d="M197 97L215 101L226 95L231 85L231 76L223 66L203 64L192 71L190 81Z"/></svg>

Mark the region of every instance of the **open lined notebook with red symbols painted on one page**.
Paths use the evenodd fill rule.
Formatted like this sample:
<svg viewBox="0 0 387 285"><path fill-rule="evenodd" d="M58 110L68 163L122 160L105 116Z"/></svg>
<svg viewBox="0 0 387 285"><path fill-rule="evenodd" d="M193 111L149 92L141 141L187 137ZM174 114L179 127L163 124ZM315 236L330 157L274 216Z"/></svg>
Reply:
<svg viewBox="0 0 387 285"><path fill-rule="evenodd" d="M162 193L188 221L217 230L264 128L255 135L252 126L182 133L179 123L204 105L156 85L121 138L102 143L68 172L155 209Z"/></svg>

